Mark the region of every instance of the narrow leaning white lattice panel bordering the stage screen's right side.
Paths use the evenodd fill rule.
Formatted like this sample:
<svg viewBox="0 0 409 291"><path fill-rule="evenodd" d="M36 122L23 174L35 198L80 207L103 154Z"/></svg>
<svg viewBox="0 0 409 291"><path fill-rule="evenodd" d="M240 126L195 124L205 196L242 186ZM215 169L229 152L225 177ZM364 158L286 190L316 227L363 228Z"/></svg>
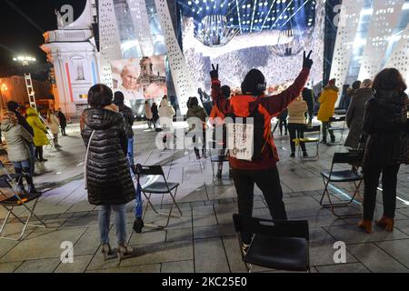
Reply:
<svg viewBox="0 0 409 291"><path fill-rule="evenodd" d="M336 83L340 88L343 87L348 74L349 64L354 51L354 40L363 7L364 0L343 1L331 67L331 78L336 79Z"/></svg>

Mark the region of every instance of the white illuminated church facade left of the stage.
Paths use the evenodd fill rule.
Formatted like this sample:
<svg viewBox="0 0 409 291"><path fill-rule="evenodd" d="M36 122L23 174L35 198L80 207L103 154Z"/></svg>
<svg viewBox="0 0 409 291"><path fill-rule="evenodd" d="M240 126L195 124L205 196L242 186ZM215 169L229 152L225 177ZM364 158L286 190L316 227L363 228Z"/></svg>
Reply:
<svg viewBox="0 0 409 291"><path fill-rule="evenodd" d="M41 46L54 65L55 108L61 107L70 117L81 114L87 105L89 88L100 82L92 30L95 16L95 0L87 0L83 14L70 25L64 25L59 15L58 29L46 32L45 45Z"/></svg>

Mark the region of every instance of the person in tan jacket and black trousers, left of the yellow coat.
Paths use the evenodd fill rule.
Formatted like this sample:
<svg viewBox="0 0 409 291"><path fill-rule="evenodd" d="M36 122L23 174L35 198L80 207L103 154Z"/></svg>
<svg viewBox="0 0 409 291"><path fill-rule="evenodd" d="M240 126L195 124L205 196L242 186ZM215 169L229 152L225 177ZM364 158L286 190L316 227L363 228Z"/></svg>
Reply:
<svg viewBox="0 0 409 291"><path fill-rule="evenodd" d="M288 131L290 132L291 156L295 157L295 142L294 139L304 138L305 130L305 112L308 110L308 105L299 95L292 104L288 105ZM304 142L300 142L303 156L307 157L307 152Z"/></svg>

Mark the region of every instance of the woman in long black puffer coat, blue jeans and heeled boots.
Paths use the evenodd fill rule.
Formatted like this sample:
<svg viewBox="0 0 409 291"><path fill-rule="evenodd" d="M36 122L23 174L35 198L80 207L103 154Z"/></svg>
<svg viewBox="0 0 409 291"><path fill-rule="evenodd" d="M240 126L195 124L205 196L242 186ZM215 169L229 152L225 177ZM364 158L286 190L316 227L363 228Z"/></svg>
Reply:
<svg viewBox="0 0 409 291"><path fill-rule="evenodd" d="M111 210L115 212L118 256L133 252L126 246L125 205L135 199L135 186L126 158L125 119L111 104L112 99L112 90L106 85L92 86L88 92L91 108L85 109L81 116L81 135L85 146L89 143L86 162L88 200L92 205L101 206L98 219L105 257L112 252L108 238Z"/></svg>

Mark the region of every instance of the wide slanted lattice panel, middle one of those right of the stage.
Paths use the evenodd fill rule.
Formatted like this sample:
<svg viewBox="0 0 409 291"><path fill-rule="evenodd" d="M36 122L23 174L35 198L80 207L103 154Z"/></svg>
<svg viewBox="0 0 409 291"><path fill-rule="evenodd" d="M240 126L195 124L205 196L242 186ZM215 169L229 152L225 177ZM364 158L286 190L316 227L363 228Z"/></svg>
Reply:
<svg viewBox="0 0 409 291"><path fill-rule="evenodd" d="M394 28L398 25L403 5L404 0L374 1L374 13L369 25L368 41L364 48L358 80L374 79L381 70L384 53L390 37L394 35Z"/></svg>

